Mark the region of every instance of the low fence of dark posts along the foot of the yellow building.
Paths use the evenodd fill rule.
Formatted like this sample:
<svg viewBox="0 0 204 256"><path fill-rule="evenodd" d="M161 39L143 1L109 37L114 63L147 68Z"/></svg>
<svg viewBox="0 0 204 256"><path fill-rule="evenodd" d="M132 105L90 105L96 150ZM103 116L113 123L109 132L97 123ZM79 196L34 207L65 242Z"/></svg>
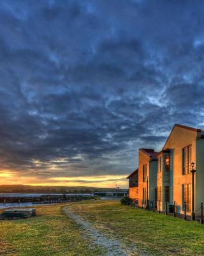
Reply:
<svg viewBox="0 0 204 256"><path fill-rule="evenodd" d="M179 206L176 205L176 202L173 202L173 205L169 204L168 202L155 202L150 200L141 200L141 204L139 203L138 199L133 200L132 202L128 202L128 205L135 208L145 209L147 211L153 211L158 213L163 213L165 215L173 215L173 217L182 217L184 220L187 220L187 216L191 216L192 211L187 212L186 202L182 205L182 212L183 214L178 213ZM200 204L200 207L195 210L196 212L200 211L200 223L203 224L203 203Z"/></svg>

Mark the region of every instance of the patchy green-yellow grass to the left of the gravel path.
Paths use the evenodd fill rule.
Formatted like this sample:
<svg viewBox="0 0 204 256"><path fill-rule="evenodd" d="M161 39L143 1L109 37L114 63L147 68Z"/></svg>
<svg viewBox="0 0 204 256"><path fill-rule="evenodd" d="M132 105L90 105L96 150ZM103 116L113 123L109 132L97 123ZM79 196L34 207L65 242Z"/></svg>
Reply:
<svg viewBox="0 0 204 256"><path fill-rule="evenodd" d="M0 255L103 255L81 237L80 228L64 216L61 207L44 205L37 207L34 218L0 221Z"/></svg>

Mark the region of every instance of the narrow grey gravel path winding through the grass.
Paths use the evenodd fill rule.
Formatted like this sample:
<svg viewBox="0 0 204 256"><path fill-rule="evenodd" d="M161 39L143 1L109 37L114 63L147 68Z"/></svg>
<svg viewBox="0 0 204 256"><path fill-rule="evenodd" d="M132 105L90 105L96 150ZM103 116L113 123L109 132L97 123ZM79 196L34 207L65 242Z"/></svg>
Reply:
<svg viewBox="0 0 204 256"><path fill-rule="evenodd" d="M97 244L98 246L102 246L106 250L106 256L133 255L131 253L133 252L131 248L124 248L124 246L120 245L120 242L117 239L112 239L112 238L106 237L104 234L101 234L99 230L92 227L92 224L89 221L82 220L82 218L77 214L75 214L75 212L72 212L68 208L68 206L63 207L63 210L69 218L73 219L77 224L81 225L84 228L85 233L91 236L91 238L93 239L93 243ZM132 248L132 249L136 250L136 248ZM138 253L137 255L147 256L147 254L145 253L142 253L142 254Z"/></svg>

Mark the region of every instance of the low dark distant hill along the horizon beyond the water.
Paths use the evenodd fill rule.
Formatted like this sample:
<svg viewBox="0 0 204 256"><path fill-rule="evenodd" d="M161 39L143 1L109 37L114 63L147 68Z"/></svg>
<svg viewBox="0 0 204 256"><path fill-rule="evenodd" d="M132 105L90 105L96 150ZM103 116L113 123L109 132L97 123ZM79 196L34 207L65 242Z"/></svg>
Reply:
<svg viewBox="0 0 204 256"><path fill-rule="evenodd" d="M0 193L92 193L94 191L115 191L113 188L0 185Z"/></svg>

